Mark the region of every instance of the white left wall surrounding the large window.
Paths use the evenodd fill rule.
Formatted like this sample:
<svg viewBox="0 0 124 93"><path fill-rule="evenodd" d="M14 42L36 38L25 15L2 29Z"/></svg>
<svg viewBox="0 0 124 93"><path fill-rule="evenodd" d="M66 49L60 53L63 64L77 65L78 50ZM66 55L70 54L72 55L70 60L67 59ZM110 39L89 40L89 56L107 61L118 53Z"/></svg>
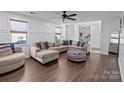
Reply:
<svg viewBox="0 0 124 93"><path fill-rule="evenodd" d="M0 12L0 43L11 42L9 31L9 19L19 19L28 21L28 38L29 44L22 45L22 50L29 56L29 46L37 41L51 41L55 40L54 27L56 24L45 22L38 19L28 18L26 16L16 15L13 13Z"/></svg>

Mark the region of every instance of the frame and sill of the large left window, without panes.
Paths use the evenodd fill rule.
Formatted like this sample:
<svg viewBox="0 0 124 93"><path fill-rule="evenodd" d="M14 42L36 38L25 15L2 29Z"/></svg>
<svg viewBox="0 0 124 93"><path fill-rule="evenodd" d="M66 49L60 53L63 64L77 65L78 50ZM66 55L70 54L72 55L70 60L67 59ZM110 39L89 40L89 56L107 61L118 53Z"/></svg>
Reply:
<svg viewBox="0 0 124 93"><path fill-rule="evenodd" d="M12 31L11 30L11 21L16 21L16 22L22 22L22 23L26 23L26 31ZM29 39L28 39L28 21L23 21L23 20L17 20L17 19L9 19L9 23L10 23L10 37L11 37L11 42L12 43L15 43L12 41L12 33L15 33L15 34L26 34L26 43L25 44L17 44L15 43L16 45L28 45L29 44Z"/></svg>

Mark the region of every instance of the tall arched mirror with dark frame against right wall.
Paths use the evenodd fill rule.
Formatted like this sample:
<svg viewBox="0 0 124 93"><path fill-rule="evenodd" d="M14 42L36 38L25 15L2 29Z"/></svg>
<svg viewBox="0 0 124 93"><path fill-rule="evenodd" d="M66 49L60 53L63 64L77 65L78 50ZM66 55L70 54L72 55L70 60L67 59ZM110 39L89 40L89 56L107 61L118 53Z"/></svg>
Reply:
<svg viewBox="0 0 124 93"><path fill-rule="evenodd" d="M110 35L110 42L109 42L109 53L116 54L118 55L119 51L119 32L118 31L113 31Z"/></svg>

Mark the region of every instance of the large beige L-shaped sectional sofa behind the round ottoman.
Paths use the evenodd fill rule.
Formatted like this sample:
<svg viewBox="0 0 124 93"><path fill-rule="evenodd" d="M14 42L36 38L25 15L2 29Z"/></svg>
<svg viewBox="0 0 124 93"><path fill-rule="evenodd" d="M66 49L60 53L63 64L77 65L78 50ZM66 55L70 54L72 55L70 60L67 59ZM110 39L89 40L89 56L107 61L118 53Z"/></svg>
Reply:
<svg viewBox="0 0 124 93"><path fill-rule="evenodd" d="M60 53L66 52L69 49L78 49L85 51L86 53L89 53L89 45L84 45L83 47L77 46L76 41L73 41L71 45L70 44L63 45L62 42L59 43L59 45L57 46L54 46L54 44L50 42L48 44L49 48L47 49L40 49L36 46L36 44L32 45L30 47L31 57L33 57L40 63L45 64L55 59L58 59Z"/></svg>

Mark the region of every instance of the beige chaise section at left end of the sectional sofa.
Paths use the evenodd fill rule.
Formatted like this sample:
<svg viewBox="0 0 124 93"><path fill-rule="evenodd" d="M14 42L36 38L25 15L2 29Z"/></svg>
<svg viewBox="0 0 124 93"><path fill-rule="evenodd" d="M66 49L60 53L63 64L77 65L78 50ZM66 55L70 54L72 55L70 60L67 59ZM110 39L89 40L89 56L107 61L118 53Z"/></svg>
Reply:
<svg viewBox="0 0 124 93"><path fill-rule="evenodd" d="M40 50L36 46L30 47L31 57L42 64L48 63L59 58L59 51L52 49Z"/></svg>

